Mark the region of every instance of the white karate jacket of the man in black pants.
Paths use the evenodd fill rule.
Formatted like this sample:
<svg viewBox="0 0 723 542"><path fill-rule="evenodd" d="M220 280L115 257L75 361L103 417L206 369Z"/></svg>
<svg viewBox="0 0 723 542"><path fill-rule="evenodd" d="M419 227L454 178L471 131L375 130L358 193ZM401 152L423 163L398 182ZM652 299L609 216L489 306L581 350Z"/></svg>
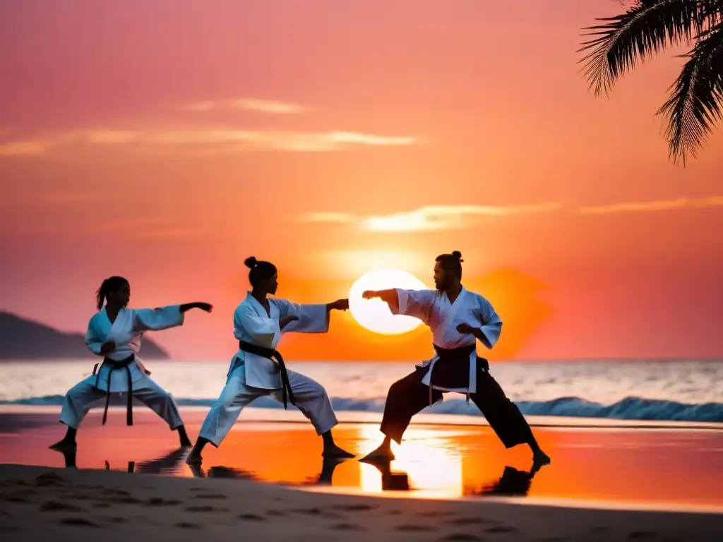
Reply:
<svg viewBox="0 0 723 542"><path fill-rule="evenodd" d="M432 343L440 348L461 348L476 345L476 337L470 333L462 334L457 331L459 324L469 324L482 330L481 342L487 348L492 348L500 338L502 332L502 319L492 307L492 304L479 293L474 293L462 287L454 303L450 303L447 293L438 290L402 290L395 288L399 300L399 309L393 314L405 314L422 320L432 330ZM418 366L431 366L422 379L422 384L429 386L429 377L439 360L435 356L422 361ZM473 350L469 355L469 387L447 388L433 386L435 390L445 392L460 392L468 396L477 391L477 353ZM431 394L431 390L430 390Z"/></svg>

